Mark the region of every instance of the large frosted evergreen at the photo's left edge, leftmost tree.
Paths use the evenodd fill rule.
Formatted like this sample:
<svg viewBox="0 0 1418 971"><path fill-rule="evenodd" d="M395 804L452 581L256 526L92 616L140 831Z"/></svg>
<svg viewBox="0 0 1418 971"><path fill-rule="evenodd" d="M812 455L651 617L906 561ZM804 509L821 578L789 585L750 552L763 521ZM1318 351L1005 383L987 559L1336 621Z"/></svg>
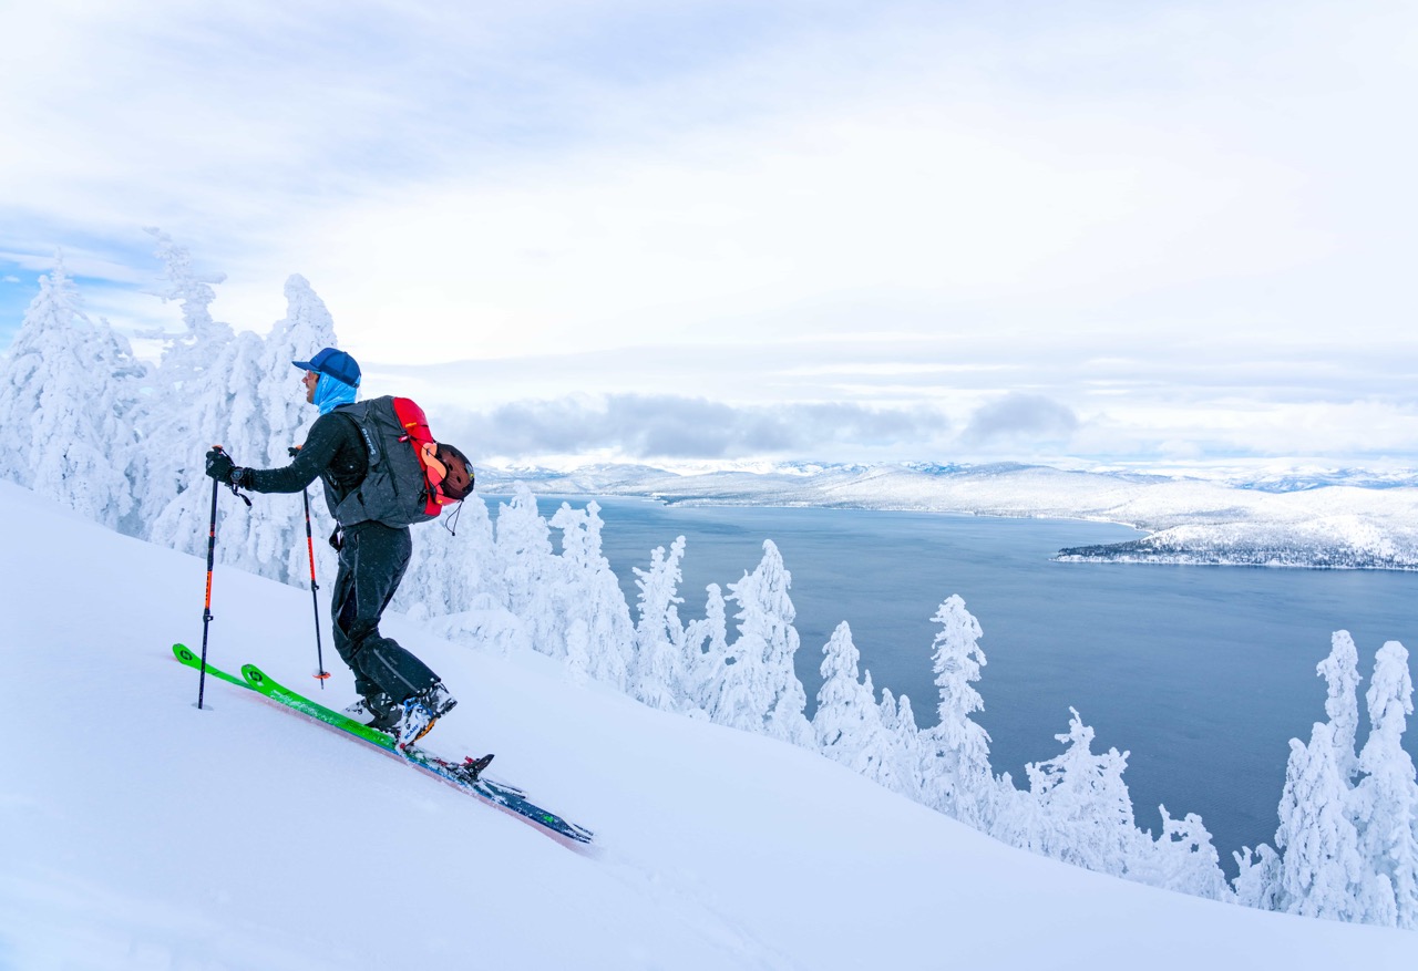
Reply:
<svg viewBox="0 0 1418 971"><path fill-rule="evenodd" d="M57 255L0 360L0 473L111 529L125 524L143 373L128 342L84 313Z"/></svg>

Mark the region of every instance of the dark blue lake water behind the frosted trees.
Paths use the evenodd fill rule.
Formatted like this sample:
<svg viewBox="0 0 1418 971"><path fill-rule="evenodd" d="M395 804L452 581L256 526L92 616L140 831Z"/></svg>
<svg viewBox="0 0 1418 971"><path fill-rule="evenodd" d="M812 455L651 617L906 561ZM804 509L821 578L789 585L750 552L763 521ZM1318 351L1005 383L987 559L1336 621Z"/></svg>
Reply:
<svg viewBox="0 0 1418 971"><path fill-rule="evenodd" d="M550 515L560 500L540 502ZM777 544L793 574L808 714L822 645L845 619L878 690L909 695L922 727L934 724L930 618L960 594L984 629L976 719L995 773L1025 788L1024 764L1061 751L1054 736L1072 705L1098 733L1095 751L1132 753L1124 780L1139 825L1157 832L1159 804L1201 814L1228 872L1231 851L1273 845L1289 739L1309 740L1326 717L1314 666L1330 634L1354 635L1361 693L1384 641L1418 651L1412 573L1051 561L1062 547L1137 536L1100 523L597 502L603 549L632 607L631 568L686 537L686 621L703 617L706 584L727 594L763 540ZM1405 746L1418 758L1418 724Z"/></svg>

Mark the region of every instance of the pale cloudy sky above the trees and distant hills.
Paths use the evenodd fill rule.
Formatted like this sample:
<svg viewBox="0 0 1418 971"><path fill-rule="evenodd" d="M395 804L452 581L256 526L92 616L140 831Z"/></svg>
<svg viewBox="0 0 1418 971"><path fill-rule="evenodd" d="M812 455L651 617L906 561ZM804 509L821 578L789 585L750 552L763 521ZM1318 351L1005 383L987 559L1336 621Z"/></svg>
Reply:
<svg viewBox="0 0 1418 971"><path fill-rule="evenodd" d="M0 347L160 227L508 461L1418 462L1409 3L3 7Z"/></svg>

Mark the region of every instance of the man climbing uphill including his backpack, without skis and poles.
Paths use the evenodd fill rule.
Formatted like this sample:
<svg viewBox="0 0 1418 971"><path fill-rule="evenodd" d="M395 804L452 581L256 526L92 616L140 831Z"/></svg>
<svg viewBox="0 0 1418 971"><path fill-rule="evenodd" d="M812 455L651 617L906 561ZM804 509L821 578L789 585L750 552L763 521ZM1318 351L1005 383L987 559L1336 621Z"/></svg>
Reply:
<svg viewBox="0 0 1418 971"><path fill-rule="evenodd" d="M305 400L320 411L291 465L279 469L241 468L224 452L213 449L207 452L207 475L251 492L301 492L316 478L325 483L325 499L337 523L330 544L340 557L330 602L335 648L354 672L354 687L362 696L347 712L396 736L404 746L427 734L434 722L457 703L438 675L397 641L379 632L380 617L408 567L413 551L408 523L437 516L438 506L430 499L434 512L410 517L390 505L398 498L398 483L393 483L393 493L381 489L389 485L384 475L389 449L380 451L379 434L370 431L376 428L372 415L384 405L397 434L394 405L389 403L403 400L376 398L354 404L359 364L333 347L325 347L308 361L291 363L305 371ZM413 407L417 411L417 405ZM421 412L417 417L423 421ZM423 428L427 431L427 425ZM406 434L396 441L408 438ZM451 445L430 441L425 448L424 458L442 475L437 500L461 500L472 490L467 458ZM384 482L374 481L372 459ZM366 479L370 482L366 483Z"/></svg>

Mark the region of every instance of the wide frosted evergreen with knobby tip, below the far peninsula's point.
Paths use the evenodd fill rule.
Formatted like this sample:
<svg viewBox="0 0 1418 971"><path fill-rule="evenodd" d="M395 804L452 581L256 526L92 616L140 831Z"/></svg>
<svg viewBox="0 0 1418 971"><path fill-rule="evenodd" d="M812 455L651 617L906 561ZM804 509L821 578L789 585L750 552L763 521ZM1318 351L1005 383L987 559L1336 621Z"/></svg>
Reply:
<svg viewBox="0 0 1418 971"><path fill-rule="evenodd" d="M1027 846L1100 873L1124 876L1141 836L1123 782L1127 753L1093 754L1093 729L1069 709L1068 734L1055 736L1064 754L1025 765L1039 805L1038 828Z"/></svg>

